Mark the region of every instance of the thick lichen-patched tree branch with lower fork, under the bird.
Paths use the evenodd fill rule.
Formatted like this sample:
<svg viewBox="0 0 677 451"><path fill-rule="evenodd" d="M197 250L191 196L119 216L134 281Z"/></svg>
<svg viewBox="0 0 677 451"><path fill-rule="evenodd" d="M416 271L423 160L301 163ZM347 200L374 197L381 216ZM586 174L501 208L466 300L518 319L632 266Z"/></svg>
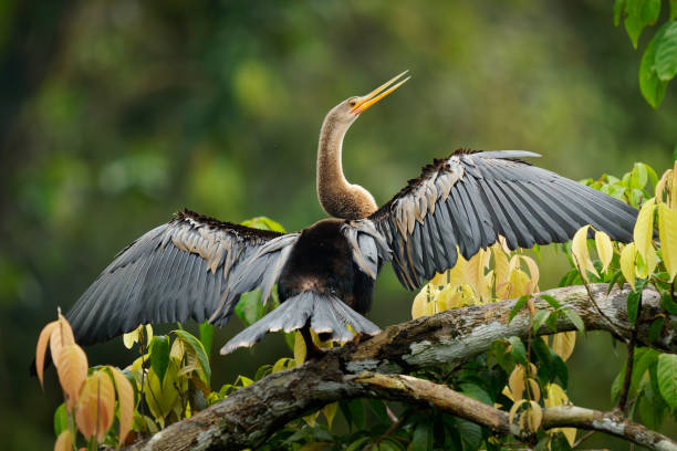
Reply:
<svg viewBox="0 0 677 451"><path fill-rule="evenodd" d="M574 308L584 321L587 329L607 331L619 335L618 338L627 340L632 333L632 325L626 312L629 287L626 286L624 290L614 287L608 295L606 294L606 284L594 284L590 286L590 290L603 315L613 324L610 324L591 305L585 287L555 289L543 294L549 294L561 304ZM674 339L677 333L670 325L670 321L665 322L666 327L664 327L656 342L649 344L648 328L650 322L657 313L663 313L663 311L660 310L659 295L653 290L645 290L643 302L642 316L636 322L637 343L656 347L663 352L677 353L677 340ZM389 391L376 385L377 380L388 380L378 379L385 377L384 374L406 373L440 363L464 361L486 352L496 339L510 336L527 337L531 327L527 312L518 314L512 322L508 323L508 315L513 305L514 301L504 301L482 306L471 306L390 326L371 339L358 344L350 343L342 348L329 352L320 360L309 361L301 367L270 375L249 387L241 388L223 401L196 413L191 418L167 427L148 441L137 443L131 449L178 451L205 450L217 447L223 449L256 447L287 422L308 415L326 403L340 399L378 398L379 395L383 395L383 398L386 399L398 399L414 403L430 403L433 401L439 402L440 406L446 403L451 413L486 426L497 433L514 432L509 429L506 412L481 405L456 392L451 395L452 390L446 386L428 387L431 391L426 398L426 391L420 391L420 387L423 387L418 382L420 379L407 378L406 376L392 377L395 378L392 380L400 382L403 380L412 382L410 380L415 379L418 389L413 391L403 389L398 391L397 387L399 386L397 384L390 387ZM537 297L534 297L534 305L537 310L550 310L546 302ZM556 328L558 332L564 332L572 331L575 327L567 319L559 319ZM539 331L540 335L551 333L546 328ZM374 375L374 373L381 375ZM365 384L365 380L371 380L372 384ZM421 382L424 386L425 384L431 384ZM406 384L404 387L407 387ZM387 392L393 398L386 397ZM405 392L407 396L405 396ZM437 398L436 394L441 392L444 392L444 396ZM478 403L481 406L478 407ZM479 408L483 410L478 410ZM492 411L489 415L487 409L496 410L496 412ZM481 418L478 418L477 411L486 415L480 415ZM548 424L548 428L555 427L558 418L566 418L566 420L562 420L562 426L571 424L607 433L616 431L616 434L621 433L619 437L635 440L637 443L653 447L653 449L677 449L677 447L665 448L675 445L675 442L639 424L625 420L621 423L617 420L622 419L616 417L613 417L614 420L612 420L611 413L573 407L559 408L554 412L560 417L553 418L548 423L545 422L546 417L543 419L543 424ZM565 416L566 412L569 412L569 417ZM582 419L576 420L579 421L576 424L565 422L574 421L574 417L579 418L576 415L582 415L582 412L586 412L587 417L581 417ZM637 432L625 433L625 431ZM644 439L645 437L647 439ZM663 441L653 441L656 437L660 437ZM655 443L667 444L658 445Z"/></svg>

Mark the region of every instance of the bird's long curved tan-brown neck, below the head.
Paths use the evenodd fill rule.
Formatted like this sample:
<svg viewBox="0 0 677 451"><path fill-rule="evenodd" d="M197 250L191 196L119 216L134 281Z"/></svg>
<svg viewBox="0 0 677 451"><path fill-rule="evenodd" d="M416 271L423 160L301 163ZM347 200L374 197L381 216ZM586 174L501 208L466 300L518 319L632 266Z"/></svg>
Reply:
<svg viewBox="0 0 677 451"><path fill-rule="evenodd" d="M343 175L343 137L350 126L351 123L336 120L331 112L322 124L317 148L317 198L329 214L357 219L376 211L376 202L368 191L348 183Z"/></svg>

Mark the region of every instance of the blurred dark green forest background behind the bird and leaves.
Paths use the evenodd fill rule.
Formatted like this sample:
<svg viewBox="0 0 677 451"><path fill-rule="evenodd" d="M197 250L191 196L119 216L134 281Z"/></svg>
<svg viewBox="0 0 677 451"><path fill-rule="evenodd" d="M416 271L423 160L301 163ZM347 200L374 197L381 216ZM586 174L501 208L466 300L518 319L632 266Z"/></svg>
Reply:
<svg viewBox="0 0 677 451"><path fill-rule="evenodd" d="M2 0L0 64L3 449L52 447L61 392L53 370L43 394L28 367L56 306L184 207L233 222L265 214L288 230L322 219L324 114L405 69L412 80L344 145L348 179L379 202L461 146L538 151L538 165L581 179L636 160L662 172L677 143L677 86L658 111L644 102L639 52L608 1ZM542 289L565 266L553 259ZM371 318L405 321L412 298L388 269ZM233 319L215 344L241 327ZM622 348L580 338L574 402L610 407ZM213 384L287 352L268 337L215 357ZM134 357L122 339L87 354Z"/></svg>

